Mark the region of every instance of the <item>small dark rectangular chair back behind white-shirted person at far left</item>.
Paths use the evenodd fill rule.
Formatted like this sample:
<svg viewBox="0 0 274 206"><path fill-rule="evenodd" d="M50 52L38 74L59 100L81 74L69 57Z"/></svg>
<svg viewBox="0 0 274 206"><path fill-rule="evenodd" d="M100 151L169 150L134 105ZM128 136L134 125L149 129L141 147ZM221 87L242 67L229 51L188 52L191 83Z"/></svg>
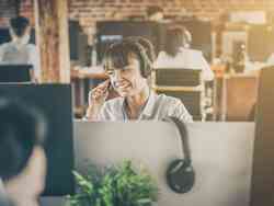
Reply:
<svg viewBox="0 0 274 206"><path fill-rule="evenodd" d="M0 83L31 82L32 65L0 65Z"/></svg>

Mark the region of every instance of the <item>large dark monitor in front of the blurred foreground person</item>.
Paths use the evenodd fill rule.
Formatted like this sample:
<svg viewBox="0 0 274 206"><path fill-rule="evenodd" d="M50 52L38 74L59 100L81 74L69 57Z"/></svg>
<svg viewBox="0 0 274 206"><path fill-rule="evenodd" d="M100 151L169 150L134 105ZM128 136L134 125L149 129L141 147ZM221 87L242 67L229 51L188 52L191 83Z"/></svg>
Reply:
<svg viewBox="0 0 274 206"><path fill-rule="evenodd" d="M69 84L0 84L0 96L15 96L35 105L48 119L45 151L45 196L73 194L71 88ZM26 185L27 190L27 185Z"/></svg>

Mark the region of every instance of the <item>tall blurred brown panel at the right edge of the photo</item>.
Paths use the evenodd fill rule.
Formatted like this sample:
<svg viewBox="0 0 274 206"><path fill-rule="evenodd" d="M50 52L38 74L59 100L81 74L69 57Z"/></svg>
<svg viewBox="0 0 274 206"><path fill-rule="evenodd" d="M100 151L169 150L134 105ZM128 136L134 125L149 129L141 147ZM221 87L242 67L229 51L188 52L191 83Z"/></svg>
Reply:
<svg viewBox="0 0 274 206"><path fill-rule="evenodd" d="M274 67L263 68L255 115L252 187L250 206L274 205Z"/></svg>

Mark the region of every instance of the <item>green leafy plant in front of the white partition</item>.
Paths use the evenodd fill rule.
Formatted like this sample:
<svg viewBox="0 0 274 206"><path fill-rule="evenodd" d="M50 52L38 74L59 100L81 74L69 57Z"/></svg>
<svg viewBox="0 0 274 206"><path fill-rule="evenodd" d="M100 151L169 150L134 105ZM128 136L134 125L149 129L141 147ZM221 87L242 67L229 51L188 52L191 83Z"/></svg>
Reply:
<svg viewBox="0 0 274 206"><path fill-rule="evenodd" d="M158 198L156 182L130 161L105 169L90 165L85 174L73 173L78 190L69 197L70 206L150 206Z"/></svg>

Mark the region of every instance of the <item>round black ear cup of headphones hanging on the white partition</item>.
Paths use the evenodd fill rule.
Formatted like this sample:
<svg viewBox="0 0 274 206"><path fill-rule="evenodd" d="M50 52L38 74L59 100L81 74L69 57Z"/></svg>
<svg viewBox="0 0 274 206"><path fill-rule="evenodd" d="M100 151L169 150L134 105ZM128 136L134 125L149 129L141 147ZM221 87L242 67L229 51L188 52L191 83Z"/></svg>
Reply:
<svg viewBox="0 0 274 206"><path fill-rule="evenodd" d="M184 159L172 161L167 171L167 182L175 193L187 193L195 183L195 172L191 162Z"/></svg>

